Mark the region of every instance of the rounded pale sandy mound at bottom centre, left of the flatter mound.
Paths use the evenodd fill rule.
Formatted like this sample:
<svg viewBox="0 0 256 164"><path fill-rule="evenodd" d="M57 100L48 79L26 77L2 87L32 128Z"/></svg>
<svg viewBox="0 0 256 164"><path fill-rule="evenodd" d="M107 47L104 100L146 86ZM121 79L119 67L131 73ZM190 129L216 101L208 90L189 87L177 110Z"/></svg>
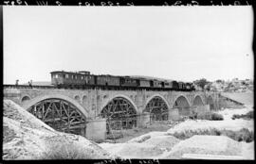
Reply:
<svg viewBox="0 0 256 164"><path fill-rule="evenodd" d="M166 135L166 132L150 132L124 143L100 143L112 154L123 158L159 158L174 147L179 139Z"/></svg>

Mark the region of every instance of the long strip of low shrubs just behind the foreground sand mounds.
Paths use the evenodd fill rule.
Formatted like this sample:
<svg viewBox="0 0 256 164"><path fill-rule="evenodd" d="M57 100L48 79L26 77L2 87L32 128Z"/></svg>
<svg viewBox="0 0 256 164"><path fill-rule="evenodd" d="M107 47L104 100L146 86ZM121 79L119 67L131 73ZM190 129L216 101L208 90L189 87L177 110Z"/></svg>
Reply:
<svg viewBox="0 0 256 164"><path fill-rule="evenodd" d="M230 139L234 139L236 141L246 141L251 142L254 140L253 131L249 131L247 128L243 128L239 131L232 130L218 130L216 128L211 129L203 129L203 130L185 130L183 132L175 132L174 134L170 134L177 139L189 139L194 135L209 135L209 136L227 136Z"/></svg>

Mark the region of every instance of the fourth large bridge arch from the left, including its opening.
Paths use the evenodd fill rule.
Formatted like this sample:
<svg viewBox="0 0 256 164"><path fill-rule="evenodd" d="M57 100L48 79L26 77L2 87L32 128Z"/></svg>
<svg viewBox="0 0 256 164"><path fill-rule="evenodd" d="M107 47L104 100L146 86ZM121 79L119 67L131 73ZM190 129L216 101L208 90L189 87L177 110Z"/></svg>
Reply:
<svg viewBox="0 0 256 164"><path fill-rule="evenodd" d="M190 110L191 104L188 98L185 95L179 95L174 101L174 108L179 109L179 115L189 116L191 113Z"/></svg>

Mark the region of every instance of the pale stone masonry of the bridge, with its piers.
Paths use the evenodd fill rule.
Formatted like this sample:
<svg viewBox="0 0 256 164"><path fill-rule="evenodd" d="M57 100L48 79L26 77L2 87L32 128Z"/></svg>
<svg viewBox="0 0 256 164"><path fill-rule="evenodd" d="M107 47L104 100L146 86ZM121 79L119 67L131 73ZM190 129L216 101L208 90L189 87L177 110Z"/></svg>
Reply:
<svg viewBox="0 0 256 164"><path fill-rule="evenodd" d="M190 114L194 106L198 107L197 110L208 110L209 105L211 108L219 107L218 97L219 93L217 92L204 91L4 88L5 99L10 99L27 110L36 106L40 112L44 112L42 102L46 100L62 100L62 102L70 104L70 107L75 108L86 120L85 136L93 140L105 139L106 120L97 119L105 118L102 117L103 109L110 113L109 115L106 113L105 116L112 117L117 114L122 116L124 119L119 122L124 124L123 127L131 128L135 125L134 123L137 123L137 126L147 126L151 122L150 119L153 114L151 111L153 109L155 109L156 115L159 114L160 116L164 112L167 112L167 119L176 121L179 120L181 115ZM56 107L60 107L59 109L61 110L63 105L59 105L49 105L49 107L54 107L55 109ZM163 111L161 107L165 107L165 110ZM149 110L149 113L146 113L146 108ZM129 113L132 114L127 117ZM43 114L48 115L47 113ZM136 120L132 119L132 115L137 116ZM74 118L75 116L69 113L68 117ZM60 120L62 117L58 119ZM70 123L72 122L70 121Z"/></svg>

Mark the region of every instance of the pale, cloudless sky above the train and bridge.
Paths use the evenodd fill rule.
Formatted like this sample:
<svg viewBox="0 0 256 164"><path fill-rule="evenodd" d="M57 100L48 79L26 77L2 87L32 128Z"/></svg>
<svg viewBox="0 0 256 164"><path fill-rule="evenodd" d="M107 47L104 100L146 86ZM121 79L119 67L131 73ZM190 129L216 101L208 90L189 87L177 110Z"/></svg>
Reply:
<svg viewBox="0 0 256 164"><path fill-rule="evenodd" d="M52 71L253 79L251 7L4 7L4 84Z"/></svg>

